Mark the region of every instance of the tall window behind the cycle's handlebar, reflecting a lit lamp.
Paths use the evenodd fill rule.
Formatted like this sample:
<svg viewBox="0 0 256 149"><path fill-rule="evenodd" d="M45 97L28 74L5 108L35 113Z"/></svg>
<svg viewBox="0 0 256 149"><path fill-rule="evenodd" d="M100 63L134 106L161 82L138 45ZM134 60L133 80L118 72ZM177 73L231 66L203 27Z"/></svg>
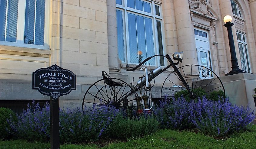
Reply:
<svg viewBox="0 0 256 149"><path fill-rule="evenodd" d="M118 56L124 63L138 64L147 57L164 55L161 5L146 0L116 0ZM146 64L164 66L164 57Z"/></svg>

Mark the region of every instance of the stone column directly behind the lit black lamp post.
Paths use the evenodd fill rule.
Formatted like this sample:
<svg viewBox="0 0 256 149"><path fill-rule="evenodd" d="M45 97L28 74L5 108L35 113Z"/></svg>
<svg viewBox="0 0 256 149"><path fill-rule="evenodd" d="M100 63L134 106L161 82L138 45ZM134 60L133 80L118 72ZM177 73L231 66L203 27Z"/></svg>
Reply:
<svg viewBox="0 0 256 149"><path fill-rule="evenodd" d="M233 17L233 12L232 12L232 7L231 7L231 2L230 0L219 0L220 2L220 10L221 10L221 18L220 21L225 24L223 21L224 16L230 15L232 17L232 23L234 23L234 17ZM224 40L225 40L225 46L226 46L226 53L227 53L227 60L228 60L228 69L229 71L231 70L231 54L229 50L229 40L228 40L228 31L227 28L223 26L223 31L224 31ZM239 56L239 50L238 50L238 43L237 43L237 37L236 37L236 31L235 31L235 25L232 26L232 34L234 38L234 45L235 45L235 50L236 50L236 56L238 59L238 66L241 66L241 61L240 61L240 56ZM240 67L241 69L241 67Z"/></svg>

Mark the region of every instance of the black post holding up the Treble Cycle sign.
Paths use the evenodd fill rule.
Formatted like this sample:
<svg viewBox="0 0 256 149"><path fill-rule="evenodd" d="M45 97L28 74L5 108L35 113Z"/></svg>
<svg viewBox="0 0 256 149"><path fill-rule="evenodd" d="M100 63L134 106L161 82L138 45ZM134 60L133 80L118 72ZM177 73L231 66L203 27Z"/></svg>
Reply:
<svg viewBox="0 0 256 149"><path fill-rule="evenodd" d="M60 148L59 136L59 98L50 97L50 144L51 149Z"/></svg>

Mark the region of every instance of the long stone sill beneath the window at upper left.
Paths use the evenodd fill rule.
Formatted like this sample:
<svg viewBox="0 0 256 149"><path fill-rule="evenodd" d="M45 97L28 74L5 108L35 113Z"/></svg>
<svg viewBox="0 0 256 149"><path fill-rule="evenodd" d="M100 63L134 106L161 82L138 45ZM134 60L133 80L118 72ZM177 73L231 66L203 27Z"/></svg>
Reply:
<svg viewBox="0 0 256 149"><path fill-rule="evenodd" d="M50 58L50 50L0 45L0 54Z"/></svg>

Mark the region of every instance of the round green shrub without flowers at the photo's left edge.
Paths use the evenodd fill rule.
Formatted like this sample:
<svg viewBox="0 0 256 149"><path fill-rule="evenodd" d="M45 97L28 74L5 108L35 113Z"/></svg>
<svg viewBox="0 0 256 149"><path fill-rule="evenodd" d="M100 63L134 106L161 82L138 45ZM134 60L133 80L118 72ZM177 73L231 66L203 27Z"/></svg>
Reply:
<svg viewBox="0 0 256 149"><path fill-rule="evenodd" d="M0 140L11 137L11 135L8 133L8 131L11 130L11 127L7 122L7 118L10 118L10 115L12 115L12 117L15 117L15 113L12 110L7 108L0 108Z"/></svg>

